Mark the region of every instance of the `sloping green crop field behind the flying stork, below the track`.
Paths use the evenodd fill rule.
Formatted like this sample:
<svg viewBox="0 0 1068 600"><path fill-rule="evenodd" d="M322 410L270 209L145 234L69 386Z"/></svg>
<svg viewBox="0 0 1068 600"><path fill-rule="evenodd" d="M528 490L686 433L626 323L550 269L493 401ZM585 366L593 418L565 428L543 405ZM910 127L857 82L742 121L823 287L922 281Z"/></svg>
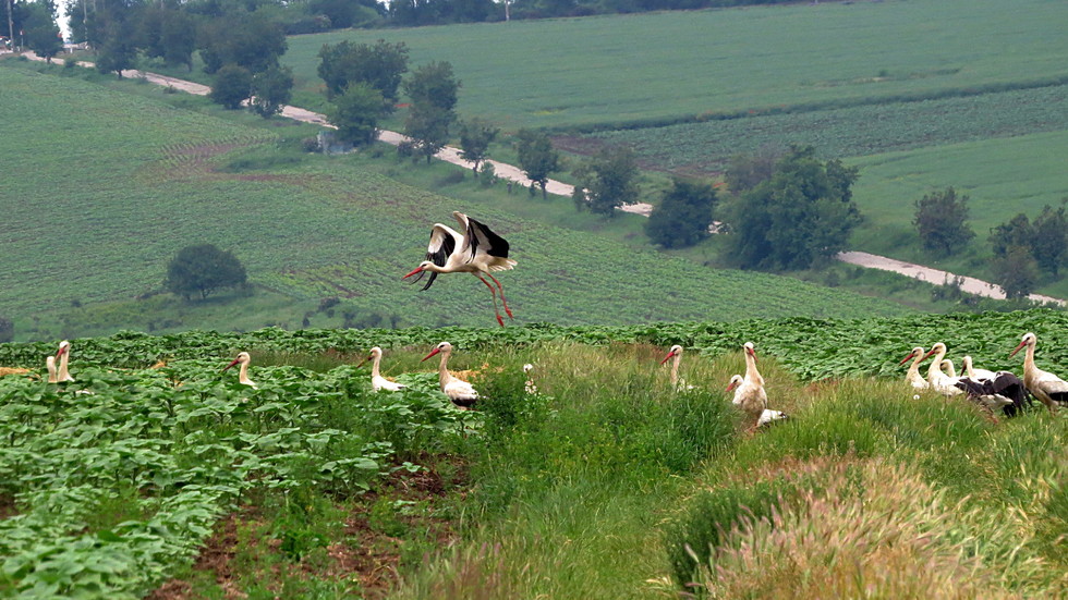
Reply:
<svg viewBox="0 0 1068 600"><path fill-rule="evenodd" d="M302 155L296 148L307 130L292 124L246 127L175 110L150 95L16 69L0 69L0 81L5 110L19 123L0 139L0 152L9 157L0 207L12 232L0 308L21 323L22 335L32 334L26 323L34 316L76 315L77 305L158 290L173 254L205 242L233 250L255 283L307 301L287 319L291 326L300 311L330 296L351 310L405 325L493 322L488 294L474 278L446 277L422 294L400 281L422 260L430 225L448 222L458 209L478 215L512 243L520 267L502 277L517 322L906 310L787 278L719 271L634 249L608 236L542 224L524 216L529 209L435 195L390 177L391 169L402 168L391 154ZM257 308L255 299L239 302ZM43 316L47 310L53 313ZM341 310L335 322L317 325L340 325ZM149 327L145 311L132 313L134 320L112 327ZM170 329L154 320L156 329ZM52 336L54 330L38 334Z"/></svg>

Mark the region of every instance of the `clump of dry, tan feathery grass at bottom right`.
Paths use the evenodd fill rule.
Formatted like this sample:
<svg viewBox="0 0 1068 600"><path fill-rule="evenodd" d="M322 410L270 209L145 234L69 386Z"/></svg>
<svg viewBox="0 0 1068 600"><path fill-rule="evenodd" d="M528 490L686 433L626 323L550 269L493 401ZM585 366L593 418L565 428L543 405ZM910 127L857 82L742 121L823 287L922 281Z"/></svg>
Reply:
<svg viewBox="0 0 1068 600"><path fill-rule="evenodd" d="M913 469L882 460L816 461L816 489L770 518L743 519L701 568L713 598L1022 598L976 553L967 522ZM813 475L816 469L801 469ZM1008 523L1004 534L1011 531ZM966 529L968 527L966 526ZM1000 566L1000 565L997 565Z"/></svg>

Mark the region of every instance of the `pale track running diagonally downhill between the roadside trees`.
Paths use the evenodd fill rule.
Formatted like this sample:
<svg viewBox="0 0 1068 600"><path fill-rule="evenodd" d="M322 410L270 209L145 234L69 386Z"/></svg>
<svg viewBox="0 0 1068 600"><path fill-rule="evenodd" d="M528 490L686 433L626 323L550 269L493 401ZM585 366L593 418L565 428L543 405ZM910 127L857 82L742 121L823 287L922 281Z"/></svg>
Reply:
<svg viewBox="0 0 1068 600"><path fill-rule="evenodd" d="M38 60L38 61L44 60L40 57L34 54L33 52L25 52L24 56L26 56L31 60ZM95 68L94 63L86 62L86 61L80 61L77 64L86 69ZM207 96L211 91L211 88L209 86L197 84L194 82L189 82L185 79L179 79L175 77L160 75L158 73L149 73L149 72L143 72L137 70L126 70L122 72L122 76L128 78L144 78L149 83L171 87L173 89L178 89L189 94L194 94L197 96ZM286 106L282 108L281 115L304 123L311 123L324 127L336 128L332 124L330 124L327 121L326 115L300 107ZM409 139L408 136L401 133L386 131L386 130L381 130L378 138L379 140L385 142L387 144L391 144L393 146L397 146L402 142ZM446 162L450 162L452 164L463 167L465 169L471 169L473 167L473 163L460 157L459 148L453 148L451 146L446 146L444 149L441 149L438 154L435 155L435 158L439 160L444 160ZM490 164L494 166L494 172L498 177L502 177L505 180L527 187L533 184L533 182L530 179L527 179L525 174L523 174L523 171L515 166L508 164L505 162L499 162L496 160L490 160L490 159L487 159L486 162L489 162ZM574 192L574 186L556 180L548 180L548 183L546 184L546 192L558 196L570 197ZM622 210L623 212L630 212L633 215L640 215L642 217L648 217L653 211L653 205L648 203L635 203L631 205L624 205L619 209ZM842 252L839 253L836 258L842 262L847 262L850 265L857 265L859 267L864 267L869 269L890 271L906 277L910 277L912 279L926 281L927 283L933 283L936 285L948 285L956 282L960 285L962 291L969 294L975 294L979 296L984 296L984 297L990 297L995 299L1006 298L1005 291L999 285L971 277L958 275L948 271L942 271L931 267L924 267L922 265L913 265L911 262L903 262L885 256L878 256L878 255L873 255L863 252ZM1055 298L1052 296L1045 296L1042 294L1031 294L1028 296L1028 299L1036 303L1053 303L1059 306L1065 306L1066 304L1068 304L1064 299Z"/></svg>

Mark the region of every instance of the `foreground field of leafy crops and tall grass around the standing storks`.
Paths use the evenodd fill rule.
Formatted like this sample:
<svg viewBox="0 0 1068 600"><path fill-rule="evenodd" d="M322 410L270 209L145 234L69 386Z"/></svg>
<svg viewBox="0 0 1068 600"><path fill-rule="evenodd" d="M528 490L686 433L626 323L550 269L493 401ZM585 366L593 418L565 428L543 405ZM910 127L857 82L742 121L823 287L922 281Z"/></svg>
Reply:
<svg viewBox="0 0 1068 600"><path fill-rule="evenodd" d="M1066 325L1031 310L74 340L75 381L0 377L0 593L1060 597L1064 413L913 397L897 362L937 340L1019 372L1008 353L1031 330L1040 367L1064 374ZM420 362L442 339L475 411ZM754 431L723 392L743 340L787 421ZM673 343L693 390L658 365ZM371 344L408 390L372 392L355 365ZM219 372L238 350L256 388ZM39 376L53 352L3 344L0 366Z"/></svg>

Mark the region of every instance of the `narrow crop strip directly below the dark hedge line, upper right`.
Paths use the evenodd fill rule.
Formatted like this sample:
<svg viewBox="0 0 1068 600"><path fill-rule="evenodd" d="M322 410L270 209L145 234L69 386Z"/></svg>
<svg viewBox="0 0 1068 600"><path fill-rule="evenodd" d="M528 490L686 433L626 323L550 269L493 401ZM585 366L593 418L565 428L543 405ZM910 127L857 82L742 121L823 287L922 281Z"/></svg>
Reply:
<svg viewBox="0 0 1068 600"><path fill-rule="evenodd" d="M1066 114L1068 86L1056 85L957 98L597 132L558 140L565 148L586 151L591 140L626 145L652 169L709 176L718 174L731 157L755 154L765 146L814 146L828 158L870 157L991 138L1064 132L1068 127ZM1012 156L1000 158L1009 160ZM1022 167L1014 163L1010 168ZM1027 181L1027 177L1021 179Z"/></svg>

